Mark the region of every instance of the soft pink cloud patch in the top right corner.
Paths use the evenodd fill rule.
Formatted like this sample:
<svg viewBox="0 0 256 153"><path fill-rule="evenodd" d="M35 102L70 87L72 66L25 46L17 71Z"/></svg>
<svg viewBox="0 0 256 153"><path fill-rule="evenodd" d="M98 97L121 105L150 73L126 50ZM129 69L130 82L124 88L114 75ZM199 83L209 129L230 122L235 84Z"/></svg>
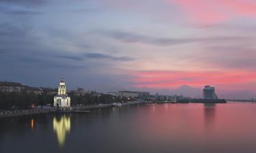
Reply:
<svg viewBox="0 0 256 153"><path fill-rule="evenodd" d="M197 24L214 24L236 17L256 17L256 2L249 0L167 0L180 5Z"/></svg>

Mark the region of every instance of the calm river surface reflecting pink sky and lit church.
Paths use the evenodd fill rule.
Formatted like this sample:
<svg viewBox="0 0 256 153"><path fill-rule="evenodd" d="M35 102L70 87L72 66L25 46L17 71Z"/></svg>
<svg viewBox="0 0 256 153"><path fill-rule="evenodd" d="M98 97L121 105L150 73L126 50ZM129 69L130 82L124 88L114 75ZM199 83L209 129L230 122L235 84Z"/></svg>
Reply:
<svg viewBox="0 0 256 153"><path fill-rule="evenodd" d="M0 152L256 152L256 103L150 104L0 119Z"/></svg>

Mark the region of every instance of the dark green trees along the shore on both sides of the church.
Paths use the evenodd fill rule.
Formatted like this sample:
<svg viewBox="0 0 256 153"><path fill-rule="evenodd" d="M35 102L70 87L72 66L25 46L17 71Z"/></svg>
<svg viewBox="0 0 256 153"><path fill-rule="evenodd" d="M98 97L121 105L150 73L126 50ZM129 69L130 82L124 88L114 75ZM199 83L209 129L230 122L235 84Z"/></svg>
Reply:
<svg viewBox="0 0 256 153"><path fill-rule="evenodd" d="M53 105L54 96L55 95L49 95L47 92L43 92L42 95L27 92L0 92L0 109L28 109L31 105ZM89 92L85 95L76 95L70 92L69 96L71 98L71 105L119 103L134 100L105 94L98 95L95 92Z"/></svg>

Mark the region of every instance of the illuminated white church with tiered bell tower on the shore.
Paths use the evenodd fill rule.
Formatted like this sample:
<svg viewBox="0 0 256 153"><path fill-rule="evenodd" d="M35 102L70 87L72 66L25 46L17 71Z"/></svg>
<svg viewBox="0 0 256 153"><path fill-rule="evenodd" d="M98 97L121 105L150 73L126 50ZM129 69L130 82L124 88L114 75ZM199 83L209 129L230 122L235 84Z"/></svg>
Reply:
<svg viewBox="0 0 256 153"><path fill-rule="evenodd" d="M64 77L59 82L58 94L54 97L54 107L70 107L70 97L67 94Z"/></svg>

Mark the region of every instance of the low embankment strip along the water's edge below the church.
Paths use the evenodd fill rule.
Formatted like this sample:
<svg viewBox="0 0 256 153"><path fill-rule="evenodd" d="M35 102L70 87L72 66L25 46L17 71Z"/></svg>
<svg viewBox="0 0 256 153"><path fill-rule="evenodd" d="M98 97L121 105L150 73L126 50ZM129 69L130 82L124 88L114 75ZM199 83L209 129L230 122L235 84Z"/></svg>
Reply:
<svg viewBox="0 0 256 153"><path fill-rule="evenodd" d="M149 103L145 101L132 101L128 103L121 103L121 105L116 105L116 103L110 104L99 104L99 105L76 105L69 108L50 108L50 109L25 109L25 110L14 110L14 111L0 111L0 118L16 117L16 116L31 116L35 114L53 114L53 113L79 113L79 112L89 112L93 109L104 109L109 107L119 107L126 105L135 105L141 103Z"/></svg>

